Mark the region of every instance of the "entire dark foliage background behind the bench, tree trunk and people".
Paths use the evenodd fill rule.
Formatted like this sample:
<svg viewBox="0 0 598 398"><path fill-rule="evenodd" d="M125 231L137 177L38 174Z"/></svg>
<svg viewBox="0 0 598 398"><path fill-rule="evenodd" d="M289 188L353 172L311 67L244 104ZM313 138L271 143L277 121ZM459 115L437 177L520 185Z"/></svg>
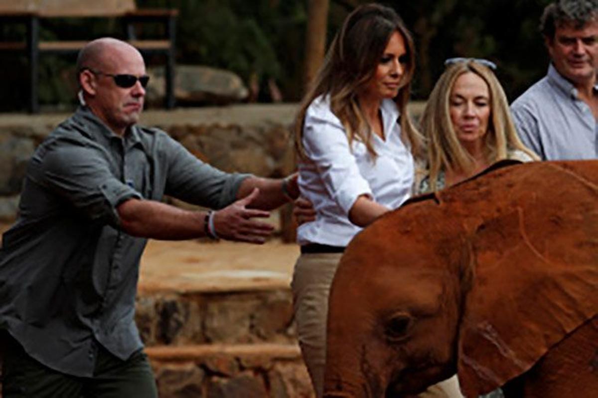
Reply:
<svg viewBox="0 0 598 398"><path fill-rule="evenodd" d="M328 42L347 14L364 0L331 0ZM545 74L548 56L538 20L550 0L395 0L395 7L414 32L417 70L414 98L425 99L444 70L448 57L483 57L499 67L497 74L514 99ZM298 100L304 62L306 0L138 0L139 8L177 8L176 62L200 64L236 72L246 83L273 78L285 100ZM141 36L155 36L149 26ZM111 34L123 37L119 20L56 19L41 27L44 39L91 39ZM0 40L24 38L25 29L0 25ZM42 103L73 103L65 79L74 56L40 58ZM148 63L154 63L148 59ZM156 60L161 62L160 60ZM25 106L26 62L23 55L2 53L8 79L0 109ZM20 105L23 104L23 105Z"/></svg>

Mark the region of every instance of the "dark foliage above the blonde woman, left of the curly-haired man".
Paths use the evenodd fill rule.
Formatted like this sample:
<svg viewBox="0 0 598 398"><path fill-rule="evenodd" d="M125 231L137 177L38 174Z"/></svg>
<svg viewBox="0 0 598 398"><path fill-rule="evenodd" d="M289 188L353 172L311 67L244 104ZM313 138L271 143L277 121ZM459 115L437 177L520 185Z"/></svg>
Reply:
<svg viewBox="0 0 598 398"><path fill-rule="evenodd" d="M428 96L432 87L423 87L423 77L429 74L432 76L430 80L435 82L444 71L445 59L480 57L498 65L496 73L507 96L515 99L548 68L547 51L538 32L538 23L542 10L549 3L550 0L394 2L407 26L413 27L419 19L428 19L427 29L434 30L426 54L430 58L429 68L417 70L416 97L425 99ZM418 51L423 36L416 34Z"/></svg>

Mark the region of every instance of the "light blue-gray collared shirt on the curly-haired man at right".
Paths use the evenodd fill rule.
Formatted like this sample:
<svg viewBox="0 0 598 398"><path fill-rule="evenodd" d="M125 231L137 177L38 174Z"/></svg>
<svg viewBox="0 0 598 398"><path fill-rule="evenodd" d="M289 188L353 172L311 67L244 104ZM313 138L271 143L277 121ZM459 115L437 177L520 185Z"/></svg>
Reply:
<svg viewBox="0 0 598 398"><path fill-rule="evenodd" d="M512 103L521 140L542 160L598 158L598 124L577 94L551 64L548 75Z"/></svg>

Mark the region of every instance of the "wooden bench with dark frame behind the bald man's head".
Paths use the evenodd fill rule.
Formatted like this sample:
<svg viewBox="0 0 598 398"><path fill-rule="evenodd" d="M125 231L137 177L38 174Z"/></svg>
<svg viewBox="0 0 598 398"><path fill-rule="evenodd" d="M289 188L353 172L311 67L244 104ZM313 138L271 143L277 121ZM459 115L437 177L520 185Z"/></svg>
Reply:
<svg viewBox="0 0 598 398"><path fill-rule="evenodd" d="M175 28L177 10L138 9L135 0L0 0L0 23L23 23L26 37L22 41L0 41L0 51L25 52L29 59L29 111L39 112L38 83L39 55L42 53L77 53L87 41L42 41L39 26L47 19L117 17L124 27L124 39L144 55L161 54L166 57L166 108L173 108L175 75ZM165 38L139 40L136 25L161 23ZM113 35L119 38L119 35Z"/></svg>

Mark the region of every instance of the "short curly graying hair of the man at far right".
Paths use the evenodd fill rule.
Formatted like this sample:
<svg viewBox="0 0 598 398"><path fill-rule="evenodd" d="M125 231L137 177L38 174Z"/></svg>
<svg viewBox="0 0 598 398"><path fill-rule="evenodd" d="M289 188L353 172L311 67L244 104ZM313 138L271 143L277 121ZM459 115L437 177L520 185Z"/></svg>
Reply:
<svg viewBox="0 0 598 398"><path fill-rule="evenodd" d="M557 27L570 24L575 29L581 29L597 17L598 0L557 0L544 8L540 32L545 38L554 39Z"/></svg>

